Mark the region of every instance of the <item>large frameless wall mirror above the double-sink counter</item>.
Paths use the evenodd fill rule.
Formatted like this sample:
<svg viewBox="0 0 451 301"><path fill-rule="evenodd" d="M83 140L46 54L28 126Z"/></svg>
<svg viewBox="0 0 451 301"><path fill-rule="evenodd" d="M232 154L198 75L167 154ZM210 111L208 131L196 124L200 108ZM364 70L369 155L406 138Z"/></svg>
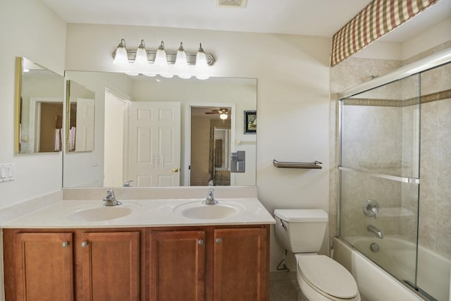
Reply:
<svg viewBox="0 0 451 301"><path fill-rule="evenodd" d="M256 79L65 76L92 92L80 98L95 110L94 148L66 149L63 187L256 185L257 134L244 126L245 111L257 111Z"/></svg>

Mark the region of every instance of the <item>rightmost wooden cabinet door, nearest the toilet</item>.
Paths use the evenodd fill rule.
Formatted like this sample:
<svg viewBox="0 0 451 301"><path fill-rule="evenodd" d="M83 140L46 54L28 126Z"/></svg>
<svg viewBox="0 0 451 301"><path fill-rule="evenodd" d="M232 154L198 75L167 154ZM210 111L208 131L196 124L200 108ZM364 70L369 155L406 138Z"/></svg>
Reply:
<svg viewBox="0 0 451 301"><path fill-rule="evenodd" d="M214 231L214 300L268 300L266 228Z"/></svg>

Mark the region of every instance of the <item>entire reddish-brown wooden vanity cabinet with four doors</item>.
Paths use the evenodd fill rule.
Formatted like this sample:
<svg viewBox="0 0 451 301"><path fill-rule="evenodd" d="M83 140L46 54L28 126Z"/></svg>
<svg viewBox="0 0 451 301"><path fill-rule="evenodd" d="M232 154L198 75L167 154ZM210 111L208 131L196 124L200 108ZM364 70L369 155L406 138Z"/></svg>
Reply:
<svg viewBox="0 0 451 301"><path fill-rule="evenodd" d="M269 299L268 225L3 232L8 301Z"/></svg>

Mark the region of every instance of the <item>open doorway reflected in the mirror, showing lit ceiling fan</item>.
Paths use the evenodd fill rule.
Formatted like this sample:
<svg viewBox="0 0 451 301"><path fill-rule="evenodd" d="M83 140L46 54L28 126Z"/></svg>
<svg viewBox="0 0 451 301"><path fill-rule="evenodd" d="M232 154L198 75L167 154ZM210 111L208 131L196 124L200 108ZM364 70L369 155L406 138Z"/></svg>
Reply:
<svg viewBox="0 0 451 301"><path fill-rule="evenodd" d="M231 116L231 107L191 106L190 186L230 186Z"/></svg>

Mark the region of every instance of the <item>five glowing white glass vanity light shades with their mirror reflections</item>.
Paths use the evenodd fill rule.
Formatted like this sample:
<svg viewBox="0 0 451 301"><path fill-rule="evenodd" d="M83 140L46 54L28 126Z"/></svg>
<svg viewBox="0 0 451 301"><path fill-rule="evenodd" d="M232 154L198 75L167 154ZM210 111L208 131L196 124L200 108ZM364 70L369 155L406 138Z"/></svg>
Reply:
<svg viewBox="0 0 451 301"><path fill-rule="evenodd" d="M192 75L200 80L209 78L208 67L215 62L211 54L205 54L202 44L199 44L197 54L185 52L183 43L176 52L167 52L164 42L161 41L156 51L146 49L144 39L136 51L125 47L125 39L121 39L116 50L113 52L113 63L123 68L123 72L130 75L161 75L164 78L191 78Z"/></svg>

